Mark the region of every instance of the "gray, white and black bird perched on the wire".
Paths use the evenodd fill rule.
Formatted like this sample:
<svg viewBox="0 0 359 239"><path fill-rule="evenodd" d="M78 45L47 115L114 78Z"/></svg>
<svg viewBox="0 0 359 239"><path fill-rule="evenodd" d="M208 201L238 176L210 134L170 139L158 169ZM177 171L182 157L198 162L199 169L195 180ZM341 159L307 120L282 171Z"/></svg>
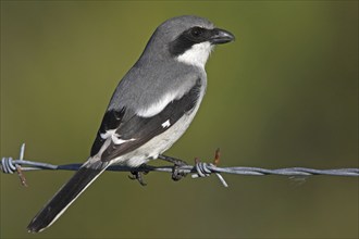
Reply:
<svg viewBox="0 0 359 239"><path fill-rule="evenodd" d="M202 101L213 47L233 40L233 34L198 16L162 23L116 87L90 156L33 218L28 231L52 225L110 165L138 167L168 150Z"/></svg>

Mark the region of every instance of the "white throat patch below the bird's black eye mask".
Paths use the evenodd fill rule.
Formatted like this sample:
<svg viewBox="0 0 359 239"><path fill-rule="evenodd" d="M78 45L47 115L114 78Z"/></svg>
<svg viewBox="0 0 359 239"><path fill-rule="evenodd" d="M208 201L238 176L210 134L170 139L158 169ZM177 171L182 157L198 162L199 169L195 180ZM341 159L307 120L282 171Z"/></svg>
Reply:
<svg viewBox="0 0 359 239"><path fill-rule="evenodd" d="M177 56L177 61L188 65L195 65L205 68L206 62L213 49L213 46L206 41L191 46L190 49Z"/></svg>

